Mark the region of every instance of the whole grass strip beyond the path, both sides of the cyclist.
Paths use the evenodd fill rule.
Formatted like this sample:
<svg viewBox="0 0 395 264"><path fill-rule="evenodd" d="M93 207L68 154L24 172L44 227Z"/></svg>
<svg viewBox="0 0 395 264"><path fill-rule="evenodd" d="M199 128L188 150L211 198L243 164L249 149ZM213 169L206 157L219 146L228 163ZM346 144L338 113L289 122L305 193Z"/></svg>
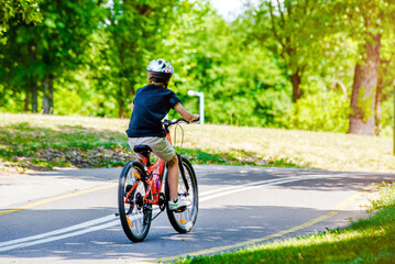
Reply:
<svg viewBox="0 0 395 264"><path fill-rule="evenodd" d="M19 167L120 166L131 158L128 122L2 113L0 158ZM395 173L391 138L212 124L183 128L182 153L194 163Z"/></svg>

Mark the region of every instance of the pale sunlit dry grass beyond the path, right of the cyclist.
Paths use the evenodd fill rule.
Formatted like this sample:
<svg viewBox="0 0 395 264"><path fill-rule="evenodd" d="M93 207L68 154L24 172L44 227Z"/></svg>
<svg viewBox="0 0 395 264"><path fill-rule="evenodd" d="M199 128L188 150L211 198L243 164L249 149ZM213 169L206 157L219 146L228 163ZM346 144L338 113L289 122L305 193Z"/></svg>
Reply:
<svg viewBox="0 0 395 264"><path fill-rule="evenodd" d="M395 173L391 138L228 125L186 125L185 131L187 148L243 151L256 163L283 160L309 168Z"/></svg>

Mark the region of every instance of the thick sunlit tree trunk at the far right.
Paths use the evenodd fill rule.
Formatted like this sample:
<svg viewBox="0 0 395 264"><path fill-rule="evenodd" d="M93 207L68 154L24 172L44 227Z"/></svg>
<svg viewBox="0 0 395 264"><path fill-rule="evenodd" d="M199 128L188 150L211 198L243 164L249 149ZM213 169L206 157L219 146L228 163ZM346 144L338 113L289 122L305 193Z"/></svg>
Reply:
<svg viewBox="0 0 395 264"><path fill-rule="evenodd" d="M375 94L377 87L381 35L365 44L363 63L356 63L352 85L350 129L351 134L375 134Z"/></svg>

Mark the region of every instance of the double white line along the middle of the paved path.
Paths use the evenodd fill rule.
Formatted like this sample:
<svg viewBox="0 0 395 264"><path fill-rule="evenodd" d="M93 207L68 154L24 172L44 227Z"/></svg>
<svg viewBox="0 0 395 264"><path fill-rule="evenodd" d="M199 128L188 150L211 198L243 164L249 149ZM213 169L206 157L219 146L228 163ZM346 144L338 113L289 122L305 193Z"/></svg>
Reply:
<svg viewBox="0 0 395 264"><path fill-rule="evenodd" d="M273 186L273 185L281 185L281 184L287 184L293 182L299 182L299 180L307 180L307 179L318 179L318 178L330 178L330 177L337 177L339 175L310 175L310 176L300 176L300 177L289 177L289 178L277 178L277 179L266 179L266 180L260 180L254 182L250 184L239 185L239 186L232 186L232 187L224 187L221 189L210 190L202 193L199 196L199 201L207 201L210 199L215 199L221 196L227 196L230 194L234 194L238 191L244 191L253 188L260 188L263 186ZM153 210L153 213L158 212L158 209ZM107 229L110 227L118 226L120 223L119 219L114 215L110 215L107 217L98 218L95 220L90 220L87 222L83 222L76 226L72 226L64 229L54 230L51 232L32 235L23 239L17 239L6 242L0 242L0 252L10 251L14 249L21 249L26 248L31 245L37 245L43 243L48 243L62 239L67 239L72 237L77 237L80 234L98 231L101 229ZM97 226L98 224L98 226ZM79 230L79 231L76 231ZM32 242L29 242L32 241Z"/></svg>

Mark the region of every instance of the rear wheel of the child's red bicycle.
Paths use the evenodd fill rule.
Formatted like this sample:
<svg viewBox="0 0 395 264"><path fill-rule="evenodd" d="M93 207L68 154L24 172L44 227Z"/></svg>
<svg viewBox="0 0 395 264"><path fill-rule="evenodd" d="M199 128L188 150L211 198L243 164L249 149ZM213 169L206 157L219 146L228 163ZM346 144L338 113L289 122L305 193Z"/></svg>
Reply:
<svg viewBox="0 0 395 264"><path fill-rule="evenodd" d="M119 216L125 235L133 242L143 241L151 226L152 208L143 204L147 188L144 174L140 163L129 162L119 178Z"/></svg>

